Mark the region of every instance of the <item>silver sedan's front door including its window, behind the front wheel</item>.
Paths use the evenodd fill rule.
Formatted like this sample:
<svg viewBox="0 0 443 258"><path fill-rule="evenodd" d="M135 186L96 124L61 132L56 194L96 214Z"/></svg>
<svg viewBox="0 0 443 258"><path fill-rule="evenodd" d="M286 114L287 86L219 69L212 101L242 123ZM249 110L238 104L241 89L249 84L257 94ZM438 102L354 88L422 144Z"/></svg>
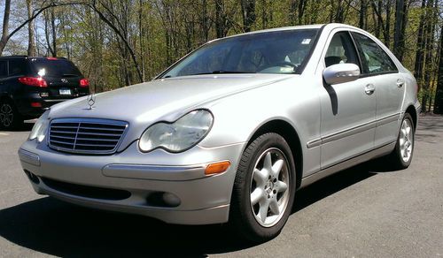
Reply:
<svg viewBox="0 0 443 258"><path fill-rule="evenodd" d="M340 63L352 63L361 67L354 42L347 31L338 31L330 36L324 55L324 67ZM375 85L369 78L324 85L320 94L322 169L374 148L375 90Z"/></svg>

